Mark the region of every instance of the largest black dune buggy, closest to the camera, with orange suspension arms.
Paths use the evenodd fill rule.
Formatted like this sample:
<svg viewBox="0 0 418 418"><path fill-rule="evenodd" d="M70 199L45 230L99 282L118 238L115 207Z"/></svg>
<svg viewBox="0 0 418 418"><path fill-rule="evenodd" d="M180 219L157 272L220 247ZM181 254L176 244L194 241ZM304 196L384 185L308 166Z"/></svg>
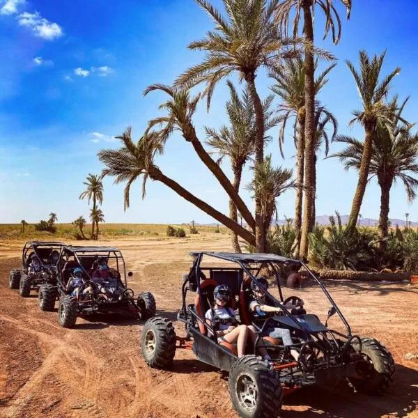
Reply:
<svg viewBox="0 0 418 418"><path fill-rule="evenodd" d="M301 261L273 254L192 253L193 266L183 277L183 306L178 320L185 323L187 336L176 336L172 323L156 316L144 325L141 343L146 363L155 368L164 368L173 361L177 347L192 348L197 359L219 369L229 371L229 394L240 417L277 417L284 394L312 384L334 385L337 380L348 380L357 392L383 394L394 380L394 359L376 339L353 335L346 319L336 306L327 289ZM232 264L229 267L201 267L203 256L215 257ZM221 263L220 263L221 264ZM221 264L222 265L222 264ZM309 281L319 285L332 305L325 324L315 314L306 314L303 309L289 311L285 305L300 300L297 296L284 300L280 284L281 269L300 265L306 268ZM236 267L235 267L236 266ZM233 293L230 307L238 312L240 322L250 325L249 300L251 282L268 268L276 279L279 300L263 288L270 304L281 309L280 314L254 319L252 325L258 330L254 345L248 343L245 356L238 359L236 347L213 336L214 330L207 325L204 316L213 302L213 290L226 284ZM262 287L262 286L261 286ZM194 303L187 304L187 292L196 292ZM343 329L339 332L327 326L334 314L341 318ZM325 318L325 316L324 316ZM284 346L281 339L261 336L270 324L287 328L291 332L293 346ZM208 336L208 331L211 331ZM176 341L179 341L177 346ZM258 355L264 347L270 357L268 362ZM297 350L297 360L290 350Z"/></svg>

